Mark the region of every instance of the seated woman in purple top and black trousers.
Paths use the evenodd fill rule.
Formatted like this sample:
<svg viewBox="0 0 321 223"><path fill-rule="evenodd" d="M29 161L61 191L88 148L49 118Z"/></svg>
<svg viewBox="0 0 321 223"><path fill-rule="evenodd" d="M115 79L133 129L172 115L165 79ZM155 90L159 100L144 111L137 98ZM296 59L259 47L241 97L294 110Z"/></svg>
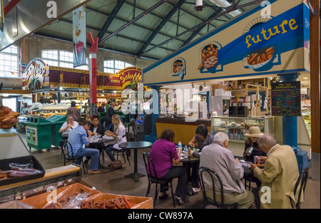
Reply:
<svg viewBox="0 0 321 223"><path fill-rule="evenodd" d="M180 151L176 151L176 145L173 143L175 133L173 130L166 129L161 134L161 137L154 142L151 147L151 159L155 165L156 175L159 180L169 180L178 178L178 184L175 190L175 201L183 205L188 202L186 193L187 170L185 167L176 167L180 162ZM167 185L161 185L159 199L168 197L165 192Z"/></svg>

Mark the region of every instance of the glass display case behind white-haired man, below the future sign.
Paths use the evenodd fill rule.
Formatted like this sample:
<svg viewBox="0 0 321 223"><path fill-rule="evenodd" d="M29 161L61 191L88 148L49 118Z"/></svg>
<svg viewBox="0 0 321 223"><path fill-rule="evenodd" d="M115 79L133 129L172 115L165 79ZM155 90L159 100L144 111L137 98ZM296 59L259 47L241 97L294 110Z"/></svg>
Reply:
<svg viewBox="0 0 321 223"><path fill-rule="evenodd" d="M273 116L266 117L211 117L210 133L215 135L218 132L228 134L230 141L238 142L245 140L245 133L252 126L258 126L262 133L274 136L275 134L275 120Z"/></svg>

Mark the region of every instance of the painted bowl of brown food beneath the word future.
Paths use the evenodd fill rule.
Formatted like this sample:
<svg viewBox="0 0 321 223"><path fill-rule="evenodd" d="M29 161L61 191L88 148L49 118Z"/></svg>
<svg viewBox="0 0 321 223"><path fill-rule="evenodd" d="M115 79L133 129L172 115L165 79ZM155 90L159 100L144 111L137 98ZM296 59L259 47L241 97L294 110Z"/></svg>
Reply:
<svg viewBox="0 0 321 223"><path fill-rule="evenodd" d="M260 48L248 54L248 67L253 70L261 68L269 63L275 53L273 46L268 46L265 48Z"/></svg>

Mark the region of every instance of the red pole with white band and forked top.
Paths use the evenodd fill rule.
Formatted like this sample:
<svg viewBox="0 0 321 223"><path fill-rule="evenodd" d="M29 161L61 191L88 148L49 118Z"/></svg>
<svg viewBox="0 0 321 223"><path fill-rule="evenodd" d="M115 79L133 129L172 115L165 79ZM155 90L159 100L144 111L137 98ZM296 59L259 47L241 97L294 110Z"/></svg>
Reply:
<svg viewBox="0 0 321 223"><path fill-rule="evenodd" d="M97 115L97 52L98 37L93 40L91 33L88 33L91 48L89 48L89 88L90 88L90 115Z"/></svg>

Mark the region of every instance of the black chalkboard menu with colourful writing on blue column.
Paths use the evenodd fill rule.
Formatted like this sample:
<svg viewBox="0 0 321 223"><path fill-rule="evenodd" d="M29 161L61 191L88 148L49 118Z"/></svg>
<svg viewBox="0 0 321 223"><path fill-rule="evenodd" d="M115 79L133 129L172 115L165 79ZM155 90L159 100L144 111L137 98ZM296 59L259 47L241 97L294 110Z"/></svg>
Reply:
<svg viewBox="0 0 321 223"><path fill-rule="evenodd" d="M272 115L300 116L300 81L272 83Z"/></svg>

